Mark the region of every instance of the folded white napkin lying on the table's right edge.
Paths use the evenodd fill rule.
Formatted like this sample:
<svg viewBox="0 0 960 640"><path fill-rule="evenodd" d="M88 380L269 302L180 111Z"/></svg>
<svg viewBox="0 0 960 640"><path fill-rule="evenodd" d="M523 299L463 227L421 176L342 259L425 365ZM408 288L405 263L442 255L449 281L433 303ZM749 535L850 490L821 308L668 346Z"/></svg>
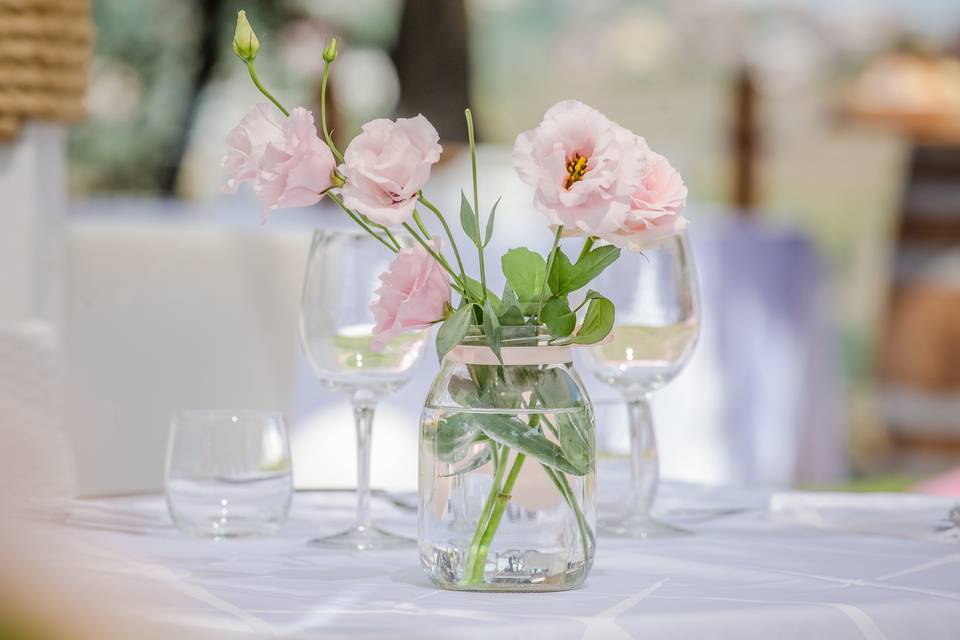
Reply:
<svg viewBox="0 0 960 640"><path fill-rule="evenodd" d="M816 493L791 491L770 496L770 517L821 529L957 541L949 521L956 499L911 493Z"/></svg>

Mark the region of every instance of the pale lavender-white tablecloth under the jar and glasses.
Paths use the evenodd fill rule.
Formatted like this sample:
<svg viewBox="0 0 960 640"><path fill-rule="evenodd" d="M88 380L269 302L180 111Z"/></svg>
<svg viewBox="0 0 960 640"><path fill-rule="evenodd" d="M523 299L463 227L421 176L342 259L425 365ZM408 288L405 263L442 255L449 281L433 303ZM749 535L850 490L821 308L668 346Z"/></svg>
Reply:
<svg viewBox="0 0 960 640"><path fill-rule="evenodd" d="M72 574L121 588L113 608L170 637L960 638L956 544L804 526L761 491L667 485L661 508L695 535L601 537L582 588L541 594L438 590L414 548L307 544L349 523L351 499L298 493L265 539L184 537L159 495L75 501L43 528L69 545ZM414 534L413 512L374 503L381 524Z"/></svg>

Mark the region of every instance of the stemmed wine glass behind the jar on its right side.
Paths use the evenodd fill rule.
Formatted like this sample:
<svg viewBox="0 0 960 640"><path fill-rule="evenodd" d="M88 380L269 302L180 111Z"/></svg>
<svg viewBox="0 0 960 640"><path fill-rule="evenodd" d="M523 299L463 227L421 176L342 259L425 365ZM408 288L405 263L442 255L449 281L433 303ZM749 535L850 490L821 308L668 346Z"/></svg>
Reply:
<svg viewBox="0 0 960 640"><path fill-rule="evenodd" d="M613 300L617 322L612 339L585 350L585 359L626 401L632 492L619 513L600 520L599 530L633 538L689 533L650 515L660 479L650 393L680 373L700 331L696 269L686 236L623 252L595 286Z"/></svg>

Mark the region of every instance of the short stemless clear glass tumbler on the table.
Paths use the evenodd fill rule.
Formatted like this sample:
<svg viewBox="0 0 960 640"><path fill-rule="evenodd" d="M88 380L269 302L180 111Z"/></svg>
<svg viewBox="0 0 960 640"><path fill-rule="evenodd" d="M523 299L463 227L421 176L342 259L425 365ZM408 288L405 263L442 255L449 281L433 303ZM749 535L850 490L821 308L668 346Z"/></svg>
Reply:
<svg viewBox="0 0 960 640"><path fill-rule="evenodd" d="M167 506L185 534L266 536L293 497L283 416L262 411L185 411L170 427Z"/></svg>

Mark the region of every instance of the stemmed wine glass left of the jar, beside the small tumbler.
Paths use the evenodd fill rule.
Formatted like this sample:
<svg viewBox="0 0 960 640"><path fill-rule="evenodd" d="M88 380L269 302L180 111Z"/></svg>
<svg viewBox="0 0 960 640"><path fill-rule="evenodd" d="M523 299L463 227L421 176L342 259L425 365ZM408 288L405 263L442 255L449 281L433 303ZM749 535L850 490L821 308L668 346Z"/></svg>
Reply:
<svg viewBox="0 0 960 640"><path fill-rule="evenodd" d="M409 246L410 239L398 238ZM313 236L300 309L300 344L314 374L346 394L357 431L357 514L352 527L313 543L356 550L414 544L373 525L370 517L370 434L377 401L402 387L423 355L425 331L404 333L382 351L372 348L370 303L393 255L362 230L318 230Z"/></svg>

